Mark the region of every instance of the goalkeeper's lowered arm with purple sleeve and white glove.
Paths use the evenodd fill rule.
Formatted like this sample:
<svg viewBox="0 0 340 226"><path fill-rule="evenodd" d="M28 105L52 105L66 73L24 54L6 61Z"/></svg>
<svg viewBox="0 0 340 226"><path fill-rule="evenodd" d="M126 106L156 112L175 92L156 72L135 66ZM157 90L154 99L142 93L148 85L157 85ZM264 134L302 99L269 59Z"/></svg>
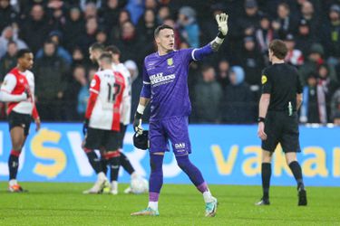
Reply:
<svg viewBox="0 0 340 226"><path fill-rule="evenodd" d="M148 106L151 99L151 80L148 76L148 73L143 67L143 88L141 89L141 98L140 103L138 104L136 114L133 119L133 128L134 131L139 134L142 133L143 128L141 127L141 118L143 116L145 108Z"/></svg>

